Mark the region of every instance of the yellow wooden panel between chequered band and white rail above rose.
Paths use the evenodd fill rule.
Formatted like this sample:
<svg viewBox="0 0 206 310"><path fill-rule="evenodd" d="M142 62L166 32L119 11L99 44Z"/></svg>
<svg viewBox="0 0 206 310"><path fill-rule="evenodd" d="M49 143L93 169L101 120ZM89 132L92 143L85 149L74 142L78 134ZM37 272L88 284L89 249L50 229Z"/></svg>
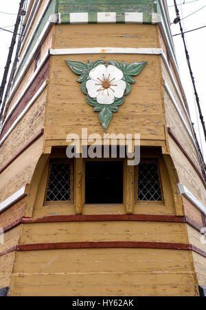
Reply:
<svg viewBox="0 0 206 310"><path fill-rule="evenodd" d="M68 35L69 33L69 35ZM121 46L122 48L158 48L154 25L121 24L105 25L56 25L54 48L93 48L100 46Z"/></svg>

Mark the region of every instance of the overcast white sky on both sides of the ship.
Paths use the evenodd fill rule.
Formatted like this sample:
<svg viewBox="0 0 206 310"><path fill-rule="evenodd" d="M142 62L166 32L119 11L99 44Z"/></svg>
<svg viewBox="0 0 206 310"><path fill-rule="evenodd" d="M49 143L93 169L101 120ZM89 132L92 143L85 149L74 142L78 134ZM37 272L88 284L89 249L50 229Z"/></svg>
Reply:
<svg viewBox="0 0 206 310"><path fill-rule="evenodd" d="M189 3L192 0L176 0L177 3L184 3L181 6L178 6L180 11L181 18L186 17L187 15L199 10L198 12L192 14L190 17L186 17L182 21L183 30L192 30L194 28L201 27L206 25L206 0L196 0L192 3ZM6 0L2 1L0 4L0 27L8 30L14 29L14 23L16 21L16 13L19 9L19 0ZM176 17L176 13L174 10L174 1L168 0L169 12L171 22L174 17ZM170 7L171 6L171 7ZM5 13L10 14L5 14ZM179 24L171 25L172 34L179 33ZM196 81L196 88L198 91L201 108L203 110L203 116L206 123L206 28L201 30L196 30L194 32L188 32L185 34L187 39L187 48L190 54L190 61L192 64L192 70L194 72L194 79ZM5 67L5 62L8 56L8 49L10 47L10 42L12 39L12 33L5 32L0 29L0 83L3 76L3 68ZM187 63L185 61L185 52L183 49L183 41L181 36L173 37L177 61L179 63L179 70L181 72L182 83L185 89L185 93L187 96L187 101L190 106L190 114L192 121L195 123L196 134L198 135L198 121L196 118L196 110L194 105L194 95L192 90L192 83L190 80L189 71L187 69ZM201 125L200 125L201 129ZM201 130L201 144L203 146L203 152L206 158L206 143L205 138L203 136L203 132Z"/></svg>

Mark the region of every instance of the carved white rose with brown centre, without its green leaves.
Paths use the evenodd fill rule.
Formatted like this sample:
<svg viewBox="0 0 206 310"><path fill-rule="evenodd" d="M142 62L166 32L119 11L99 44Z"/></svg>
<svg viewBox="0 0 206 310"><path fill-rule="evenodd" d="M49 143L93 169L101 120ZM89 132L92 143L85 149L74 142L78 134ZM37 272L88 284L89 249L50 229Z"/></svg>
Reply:
<svg viewBox="0 0 206 310"><path fill-rule="evenodd" d="M111 105L115 98L122 98L126 88L122 80L123 73L114 65L98 65L89 72L91 80L87 81L87 92L101 105Z"/></svg>

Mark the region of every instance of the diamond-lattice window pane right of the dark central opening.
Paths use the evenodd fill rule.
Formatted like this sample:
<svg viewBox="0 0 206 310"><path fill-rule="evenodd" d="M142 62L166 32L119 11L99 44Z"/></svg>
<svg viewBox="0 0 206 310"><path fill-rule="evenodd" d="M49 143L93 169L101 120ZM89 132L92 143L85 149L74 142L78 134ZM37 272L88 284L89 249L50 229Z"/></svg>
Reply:
<svg viewBox="0 0 206 310"><path fill-rule="evenodd" d="M139 164L137 200L162 200L158 166L156 163Z"/></svg>

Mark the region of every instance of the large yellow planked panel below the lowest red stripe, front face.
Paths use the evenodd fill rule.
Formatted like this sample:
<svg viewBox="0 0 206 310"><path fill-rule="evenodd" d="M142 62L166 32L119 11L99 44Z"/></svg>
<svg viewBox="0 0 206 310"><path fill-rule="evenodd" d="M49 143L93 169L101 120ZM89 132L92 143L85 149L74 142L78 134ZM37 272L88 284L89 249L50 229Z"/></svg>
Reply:
<svg viewBox="0 0 206 310"><path fill-rule="evenodd" d="M10 295L198 296L191 263L189 251L180 250L23 251Z"/></svg>

